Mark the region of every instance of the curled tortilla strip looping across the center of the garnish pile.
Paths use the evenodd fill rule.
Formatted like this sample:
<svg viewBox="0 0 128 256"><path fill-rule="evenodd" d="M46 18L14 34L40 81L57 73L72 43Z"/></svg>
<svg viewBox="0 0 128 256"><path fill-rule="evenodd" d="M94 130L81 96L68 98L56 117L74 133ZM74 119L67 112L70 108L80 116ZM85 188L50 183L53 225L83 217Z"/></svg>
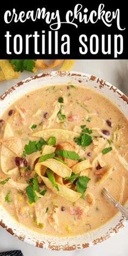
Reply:
<svg viewBox="0 0 128 256"><path fill-rule="evenodd" d="M67 167L65 164L52 158L47 159L43 162L37 163L35 165L35 171L37 172L37 174L41 173L42 166L49 168L50 170L55 172L55 174L61 176L62 178L70 177L72 173L71 168Z"/></svg>

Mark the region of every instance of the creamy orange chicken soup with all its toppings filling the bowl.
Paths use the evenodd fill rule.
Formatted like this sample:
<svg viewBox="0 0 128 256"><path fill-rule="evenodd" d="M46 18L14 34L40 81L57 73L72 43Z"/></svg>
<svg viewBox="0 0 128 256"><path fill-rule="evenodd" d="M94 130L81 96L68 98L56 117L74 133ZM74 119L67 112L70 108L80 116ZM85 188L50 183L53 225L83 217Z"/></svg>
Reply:
<svg viewBox="0 0 128 256"><path fill-rule="evenodd" d="M0 204L22 225L50 236L104 225L128 197L128 123L82 86L45 86L0 118Z"/></svg>

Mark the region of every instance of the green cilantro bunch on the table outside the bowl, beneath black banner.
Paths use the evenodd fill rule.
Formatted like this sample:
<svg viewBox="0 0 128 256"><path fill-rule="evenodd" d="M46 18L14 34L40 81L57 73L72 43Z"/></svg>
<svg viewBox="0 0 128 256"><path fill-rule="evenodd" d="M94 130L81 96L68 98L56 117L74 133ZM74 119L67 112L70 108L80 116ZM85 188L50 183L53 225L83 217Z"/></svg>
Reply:
<svg viewBox="0 0 128 256"><path fill-rule="evenodd" d="M24 70L33 72L33 68L35 67L36 60L9 60L12 66L15 66L14 71Z"/></svg>

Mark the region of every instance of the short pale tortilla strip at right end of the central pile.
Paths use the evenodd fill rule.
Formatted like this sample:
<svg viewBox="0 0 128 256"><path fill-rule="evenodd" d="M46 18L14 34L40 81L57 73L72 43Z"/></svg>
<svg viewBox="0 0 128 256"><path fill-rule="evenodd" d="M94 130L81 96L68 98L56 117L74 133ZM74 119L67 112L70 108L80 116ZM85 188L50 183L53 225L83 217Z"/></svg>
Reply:
<svg viewBox="0 0 128 256"><path fill-rule="evenodd" d="M72 171L74 172L74 174L78 174L80 171L83 171L87 168L92 168L92 164L89 163L88 159L73 165Z"/></svg>

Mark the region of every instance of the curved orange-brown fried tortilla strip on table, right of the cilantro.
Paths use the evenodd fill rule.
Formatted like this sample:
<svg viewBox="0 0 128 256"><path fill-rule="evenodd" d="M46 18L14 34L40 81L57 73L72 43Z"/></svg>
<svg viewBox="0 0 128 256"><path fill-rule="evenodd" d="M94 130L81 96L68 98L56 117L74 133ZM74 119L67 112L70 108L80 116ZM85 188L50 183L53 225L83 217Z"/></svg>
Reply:
<svg viewBox="0 0 128 256"><path fill-rule="evenodd" d="M36 67L40 69L55 68L59 66L63 60L55 60L50 66L48 66L43 60L36 60Z"/></svg>

